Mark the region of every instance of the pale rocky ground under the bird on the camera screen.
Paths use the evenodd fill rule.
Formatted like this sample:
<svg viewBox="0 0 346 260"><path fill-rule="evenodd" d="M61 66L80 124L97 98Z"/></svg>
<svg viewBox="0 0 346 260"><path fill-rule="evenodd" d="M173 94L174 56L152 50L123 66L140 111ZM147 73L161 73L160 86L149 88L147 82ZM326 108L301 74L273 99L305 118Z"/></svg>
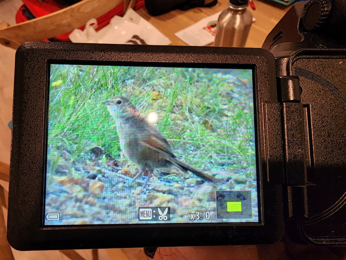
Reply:
<svg viewBox="0 0 346 260"><path fill-rule="evenodd" d="M173 169L168 175L156 172L143 188L147 177L134 179L135 165L114 159L99 147L86 151L78 162L60 163L60 170L47 172L45 207L46 214L60 213L60 220L46 220L46 225L139 223L138 207L157 206L170 207L171 223L190 222L189 213L195 211L201 216L209 211L209 222L258 221L255 178L230 174L226 166L208 171L220 180L217 183ZM230 190L251 191L252 212L240 219L217 219L216 191Z"/></svg>

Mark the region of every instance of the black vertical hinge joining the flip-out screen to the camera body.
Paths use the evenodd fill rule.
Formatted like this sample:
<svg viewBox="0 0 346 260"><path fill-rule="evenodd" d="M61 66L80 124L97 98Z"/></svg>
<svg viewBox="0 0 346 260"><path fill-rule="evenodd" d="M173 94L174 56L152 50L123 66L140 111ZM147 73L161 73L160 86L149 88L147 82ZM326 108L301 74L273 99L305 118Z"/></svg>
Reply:
<svg viewBox="0 0 346 260"><path fill-rule="evenodd" d="M303 219L308 216L307 156L304 128L304 107L300 103L297 76L278 76L278 99L282 103L282 133L284 152L283 196L286 218Z"/></svg>

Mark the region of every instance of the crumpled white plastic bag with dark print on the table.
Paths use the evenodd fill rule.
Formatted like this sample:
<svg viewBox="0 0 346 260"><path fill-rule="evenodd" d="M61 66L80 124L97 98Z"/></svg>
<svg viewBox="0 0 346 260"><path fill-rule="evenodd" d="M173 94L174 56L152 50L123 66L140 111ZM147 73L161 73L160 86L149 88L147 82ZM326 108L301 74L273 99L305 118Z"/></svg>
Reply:
<svg viewBox="0 0 346 260"><path fill-rule="evenodd" d="M96 19L91 19L86 23L84 31L75 29L69 36L70 40L79 43L171 44L169 38L133 9L129 9L124 17L114 16L109 25L98 32L95 31L96 27Z"/></svg>

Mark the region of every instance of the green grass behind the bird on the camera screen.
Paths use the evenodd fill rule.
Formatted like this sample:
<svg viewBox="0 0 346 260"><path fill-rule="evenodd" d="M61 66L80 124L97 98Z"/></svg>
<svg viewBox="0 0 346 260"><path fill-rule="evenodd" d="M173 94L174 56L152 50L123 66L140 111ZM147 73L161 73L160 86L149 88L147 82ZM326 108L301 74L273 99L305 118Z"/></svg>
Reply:
<svg viewBox="0 0 346 260"><path fill-rule="evenodd" d="M128 96L146 116L156 111L155 125L177 156L208 170L225 161L234 171L254 173L253 102L239 105L235 96L252 86L251 71L52 65L49 95L48 158L60 159L63 143L77 159L100 146L115 157L119 140L102 101ZM221 70L222 73L225 70ZM251 91L246 92L250 97ZM246 99L246 98L243 98Z"/></svg>

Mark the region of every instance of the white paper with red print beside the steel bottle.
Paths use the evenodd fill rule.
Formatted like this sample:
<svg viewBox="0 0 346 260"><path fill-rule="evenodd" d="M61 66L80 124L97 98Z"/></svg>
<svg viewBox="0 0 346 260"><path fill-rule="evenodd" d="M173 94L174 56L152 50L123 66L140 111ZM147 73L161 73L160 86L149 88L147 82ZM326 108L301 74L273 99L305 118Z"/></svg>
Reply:
<svg viewBox="0 0 346 260"><path fill-rule="evenodd" d="M221 12L203 18L197 23L176 32L174 35L190 46L211 44L215 40L217 20ZM252 22L255 20L256 18L253 17Z"/></svg>

